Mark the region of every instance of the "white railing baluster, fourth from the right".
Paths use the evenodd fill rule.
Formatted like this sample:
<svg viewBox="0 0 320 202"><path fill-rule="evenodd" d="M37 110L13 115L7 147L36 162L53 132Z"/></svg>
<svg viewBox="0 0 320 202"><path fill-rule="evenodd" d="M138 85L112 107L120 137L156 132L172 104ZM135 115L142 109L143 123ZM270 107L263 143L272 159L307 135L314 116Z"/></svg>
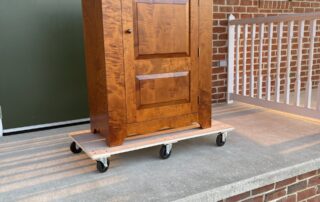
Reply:
<svg viewBox="0 0 320 202"><path fill-rule="evenodd" d="M277 56L277 71L276 71L276 102L280 102L280 68L281 68L281 49L282 49L282 35L283 22L278 24L278 56Z"/></svg>

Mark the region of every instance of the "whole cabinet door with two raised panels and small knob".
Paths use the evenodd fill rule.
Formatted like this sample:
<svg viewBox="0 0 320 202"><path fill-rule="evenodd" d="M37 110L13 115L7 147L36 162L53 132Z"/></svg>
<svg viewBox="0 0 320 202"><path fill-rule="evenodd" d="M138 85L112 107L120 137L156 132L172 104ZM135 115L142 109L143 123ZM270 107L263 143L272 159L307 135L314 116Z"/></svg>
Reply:
<svg viewBox="0 0 320 202"><path fill-rule="evenodd" d="M198 1L123 0L129 123L198 110Z"/></svg>

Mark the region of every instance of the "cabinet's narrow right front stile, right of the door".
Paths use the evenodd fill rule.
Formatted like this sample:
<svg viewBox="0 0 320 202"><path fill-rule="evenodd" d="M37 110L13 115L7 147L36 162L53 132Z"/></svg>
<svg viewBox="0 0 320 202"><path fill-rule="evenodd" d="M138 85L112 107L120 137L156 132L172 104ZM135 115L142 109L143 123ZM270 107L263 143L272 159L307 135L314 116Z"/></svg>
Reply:
<svg viewBox="0 0 320 202"><path fill-rule="evenodd" d="M199 124L211 127L212 1L200 0Z"/></svg>

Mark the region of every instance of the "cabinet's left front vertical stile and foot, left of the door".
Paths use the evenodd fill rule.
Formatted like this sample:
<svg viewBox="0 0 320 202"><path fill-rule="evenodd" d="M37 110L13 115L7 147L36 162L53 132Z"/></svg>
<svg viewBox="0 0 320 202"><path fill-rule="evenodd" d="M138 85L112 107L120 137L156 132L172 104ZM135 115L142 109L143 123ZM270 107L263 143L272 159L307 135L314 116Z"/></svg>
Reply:
<svg viewBox="0 0 320 202"><path fill-rule="evenodd" d="M102 0L110 130L107 144L109 146L121 145L127 136L121 4L121 0Z"/></svg>

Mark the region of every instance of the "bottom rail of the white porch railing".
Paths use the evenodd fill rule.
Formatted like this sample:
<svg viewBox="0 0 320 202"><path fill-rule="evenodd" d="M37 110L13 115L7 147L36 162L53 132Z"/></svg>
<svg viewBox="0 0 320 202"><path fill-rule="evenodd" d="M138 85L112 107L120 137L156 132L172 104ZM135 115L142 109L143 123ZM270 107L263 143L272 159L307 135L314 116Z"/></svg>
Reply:
<svg viewBox="0 0 320 202"><path fill-rule="evenodd" d="M252 98L252 97L242 96L242 95L236 95L236 94L232 94L231 97L233 100L239 101L239 102L244 102L244 103L248 103L248 104L252 104L260 107L265 107L265 108L283 111L291 114L305 116L313 119L320 119L320 113L315 109L297 107L294 105L287 105L284 103L267 101L267 100L262 100L262 99Z"/></svg>

